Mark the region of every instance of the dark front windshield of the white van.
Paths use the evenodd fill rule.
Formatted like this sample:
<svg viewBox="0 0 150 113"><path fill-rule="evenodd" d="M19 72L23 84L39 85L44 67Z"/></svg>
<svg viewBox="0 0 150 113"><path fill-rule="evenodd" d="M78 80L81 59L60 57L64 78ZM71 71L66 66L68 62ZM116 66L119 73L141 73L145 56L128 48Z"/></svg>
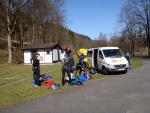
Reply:
<svg viewBox="0 0 150 113"><path fill-rule="evenodd" d="M112 57L112 58L123 57L119 49L105 49L103 50L103 53L105 57Z"/></svg>

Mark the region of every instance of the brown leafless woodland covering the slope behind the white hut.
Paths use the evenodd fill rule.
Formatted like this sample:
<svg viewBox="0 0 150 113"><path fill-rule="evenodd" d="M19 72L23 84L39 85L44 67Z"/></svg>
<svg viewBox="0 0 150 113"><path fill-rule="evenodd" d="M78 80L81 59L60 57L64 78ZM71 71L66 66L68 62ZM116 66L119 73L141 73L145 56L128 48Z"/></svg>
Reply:
<svg viewBox="0 0 150 113"><path fill-rule="evenodd" d="M32 44L55 42L67 45L74 52L80 47L100 46L99 40L92 41L87 36L68 33L69 30L64 27L64 1L0 0L0 19L7 30L9 63L12 62L14 40L17 40L17 47L20 48L25 42ZM104 37L103 44L108 45L108 40L105 35Z"/></svg>

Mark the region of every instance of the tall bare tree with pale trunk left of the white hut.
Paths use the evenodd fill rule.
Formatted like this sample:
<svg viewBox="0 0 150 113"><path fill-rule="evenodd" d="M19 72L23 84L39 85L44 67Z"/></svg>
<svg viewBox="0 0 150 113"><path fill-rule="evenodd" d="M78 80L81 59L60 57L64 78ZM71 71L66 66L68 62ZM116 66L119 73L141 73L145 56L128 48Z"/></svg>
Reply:
<svg viewBox="0 0 150 113"><path fill-rule="evenodd" d="M7 30L8 40L8 63L12 63L12 36L14 33L18 14L16 10L18 8L17 0L0 0L0 18L5 24Z"/></svg>

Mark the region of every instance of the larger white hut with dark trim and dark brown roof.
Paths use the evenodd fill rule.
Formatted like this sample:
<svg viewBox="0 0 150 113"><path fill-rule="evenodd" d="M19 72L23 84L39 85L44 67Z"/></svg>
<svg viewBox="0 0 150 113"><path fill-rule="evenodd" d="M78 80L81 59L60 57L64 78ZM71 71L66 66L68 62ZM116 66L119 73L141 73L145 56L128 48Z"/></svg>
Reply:
<svg viewBox="0 0 150 113"><path fill-rule="evenodd" d="M39 53L43 57L40 64L48 65L61 61L67 52L67 50L62 49L62 47L56 43L27 45L23 47L22 50L25 65L31 65L30 60L36 53Z"/></svg>

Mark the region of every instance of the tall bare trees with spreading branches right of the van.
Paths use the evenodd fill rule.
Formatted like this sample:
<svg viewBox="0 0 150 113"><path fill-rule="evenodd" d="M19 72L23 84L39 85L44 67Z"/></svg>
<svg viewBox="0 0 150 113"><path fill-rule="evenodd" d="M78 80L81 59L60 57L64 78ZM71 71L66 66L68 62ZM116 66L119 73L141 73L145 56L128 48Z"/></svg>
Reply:
<svg viewBox="0 0 150 113"><path fill-rule="evenodd" d="M132 44L134 54L134 41L137 36L138 26L142 26L141 34L147 37L148 55L150 56L150 2L148 0L128 0L121 10L120 19L125 23L127 34ZM138 32L139 34L139 32Z"/></svg>

